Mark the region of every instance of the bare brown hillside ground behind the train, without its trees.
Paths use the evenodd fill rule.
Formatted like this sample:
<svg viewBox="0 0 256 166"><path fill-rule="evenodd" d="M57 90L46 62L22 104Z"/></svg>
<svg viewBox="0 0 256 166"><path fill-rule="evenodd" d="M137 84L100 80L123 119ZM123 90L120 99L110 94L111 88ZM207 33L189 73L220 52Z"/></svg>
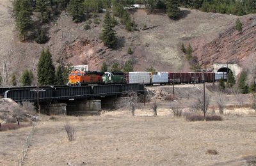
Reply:
<svg viewBox="0 0 256 166"><path fill-rule="evenodd" d="M113 61L122 65L131 58L137 71L152 65L158 71L187 72L189 64L180 50L181 43L191 43L193 56L198 56L200 63L204 61L207 66L212 61L232 61L233 57L236 61L245 61L255 52L255 15L241 17L244 28L238 33L234 29L237 16L181 10L183 18L178 21L170 20L162 11L148 15L143 9L131 10L139 31L128 32L118 24L115 27L118 47L111 50L99 39L104 13L97 17L99 24L92 19L90 29L84 30L84 22L72 22L63 11L60 17L47 24L50 40L40 45L33 40L20 42L17 39L12 3L0 1L1 74L5 78L6 73L9 76L16 73L19 79L22 70L28 68L36 75L40 51L46 47L52 53L54 64L87 63L90 70L100 70L103 61L110 68ZM145 26L154 28L143 30ZM127 54L128 47L132 55ZM3 71L4 64L7 72Z"/></svg>

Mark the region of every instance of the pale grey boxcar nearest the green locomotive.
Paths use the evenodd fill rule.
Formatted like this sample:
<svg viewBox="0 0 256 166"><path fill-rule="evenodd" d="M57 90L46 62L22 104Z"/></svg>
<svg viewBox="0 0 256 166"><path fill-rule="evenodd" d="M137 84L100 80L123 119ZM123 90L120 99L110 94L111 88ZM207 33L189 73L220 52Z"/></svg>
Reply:
<svg viewBox="0 0 256 166"><path fill-rule="evenodd" d="M129 83L141 83L150 84L150 73L149 72L129 72Z"/></svg>

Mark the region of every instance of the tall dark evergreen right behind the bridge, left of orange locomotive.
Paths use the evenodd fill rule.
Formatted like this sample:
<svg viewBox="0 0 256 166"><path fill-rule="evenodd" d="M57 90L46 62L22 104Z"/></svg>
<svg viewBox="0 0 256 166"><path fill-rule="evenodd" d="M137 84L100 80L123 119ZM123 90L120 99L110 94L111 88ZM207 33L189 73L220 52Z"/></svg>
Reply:
<svg viewBox="0 0 256 166"><path fill-rule="evenodd" d="M51 86L55 82L55 68L52 64L52 55L49 49L42 50L38 68L37 68L37 79L40 86Z"/></svg>

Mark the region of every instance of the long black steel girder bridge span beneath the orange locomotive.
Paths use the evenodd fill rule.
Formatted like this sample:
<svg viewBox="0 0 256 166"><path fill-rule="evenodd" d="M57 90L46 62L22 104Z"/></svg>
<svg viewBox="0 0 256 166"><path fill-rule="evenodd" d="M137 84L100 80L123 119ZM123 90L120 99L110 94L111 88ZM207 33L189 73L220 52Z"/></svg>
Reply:
<svg viewBox="0 0 256 166"><path fill-rule="evenodd" d="M134 91L143 93L143 84L111 84L101 86L40 86L40 87L6 87L0 88L4 98L12 98L15 102L52 102L60 100L76 100L101 96L118 96Z"/></svg>

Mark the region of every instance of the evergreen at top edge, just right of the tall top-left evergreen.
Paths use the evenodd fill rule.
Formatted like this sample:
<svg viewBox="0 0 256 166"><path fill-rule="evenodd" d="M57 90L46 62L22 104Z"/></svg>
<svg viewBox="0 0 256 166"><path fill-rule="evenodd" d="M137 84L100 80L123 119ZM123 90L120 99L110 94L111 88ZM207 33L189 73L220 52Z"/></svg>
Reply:
<svg viewBox="0 0 256 166"><path fill-rule="evenodd" d="M41 13L42 22L48 22L50 15L51 1L36 0L36 11Z"/></svg>

